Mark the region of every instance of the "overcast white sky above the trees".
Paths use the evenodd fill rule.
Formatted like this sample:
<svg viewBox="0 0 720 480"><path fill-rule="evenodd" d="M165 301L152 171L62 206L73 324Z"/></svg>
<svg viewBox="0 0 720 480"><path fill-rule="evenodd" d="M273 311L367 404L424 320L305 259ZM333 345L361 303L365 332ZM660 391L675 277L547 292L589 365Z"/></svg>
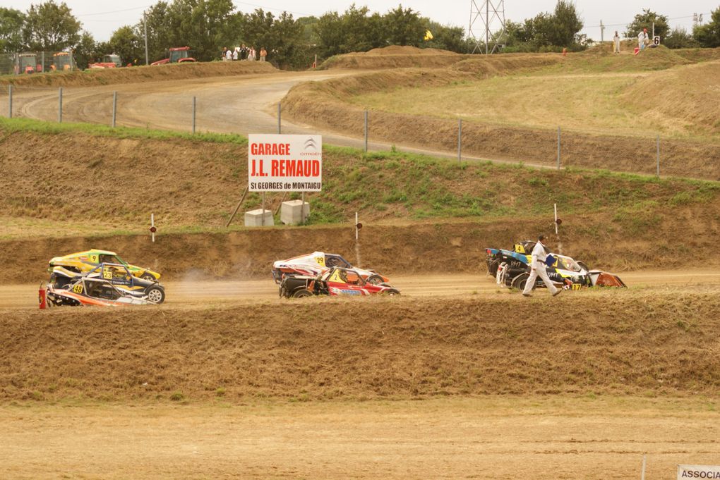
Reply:
<svg viewBox="0 0 720 480"><path fill-rule="evenodd" d="M30 4L41 4L43 0L0 0L0 6L27 10ZM55 0L60 3L62 0ZM84 29L89 31L95 40L108 40L112 32L122 25L132 25L138 22L143 15L143 9L156 3L157 0L66 0L73 14L82 22ZM492 4L500 4L500 0L491 0ZM169 0L168 0L169 3ZM292 13L294 17L319 17L326 11L345 11L348 6L355 3L357 6L367 6L370 11L383 14L390 8L402 3L403 8L411 8L420 12L423 17L429 17L441 24L450 24L463 27L467 32L470 22L471 0L254 0L253 3L234 1L235 7L240 11L253 11L262 8L279 14L282 11ZM480 7L483 0L475 0ZM552 11L557 0L505 0L505 19L513 22L522 22L526 18L534 17L541 11ZM608 27L605 30L606 40L618 30L623 32L626 25L631 22L635 14L642 9L651 9L665 15L670 19L671 27L685 27L688 32L693 26L693 13L702 13L705 22L709 20L711 10L720 8L720 0L654 0L641 3L627 0L576 0L575 6L585 23L582 33L588 37L600 40L600 20ZM475 25L480 29L480 24Z"/></svg>

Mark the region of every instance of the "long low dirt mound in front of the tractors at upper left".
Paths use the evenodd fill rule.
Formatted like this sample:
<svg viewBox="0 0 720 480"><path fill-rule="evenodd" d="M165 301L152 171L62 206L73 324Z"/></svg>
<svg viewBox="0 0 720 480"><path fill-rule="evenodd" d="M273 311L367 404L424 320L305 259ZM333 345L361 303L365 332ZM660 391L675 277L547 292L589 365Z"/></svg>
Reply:
<svg viewBox="0 0 720 480"><path fill-rule="evenodd" d="M129 68L92 69L0 78L0 84L19 86L96 86L116 83L143 83L186 78L224 77L274 73L267 62L210 62L155 65Z"/></svg>

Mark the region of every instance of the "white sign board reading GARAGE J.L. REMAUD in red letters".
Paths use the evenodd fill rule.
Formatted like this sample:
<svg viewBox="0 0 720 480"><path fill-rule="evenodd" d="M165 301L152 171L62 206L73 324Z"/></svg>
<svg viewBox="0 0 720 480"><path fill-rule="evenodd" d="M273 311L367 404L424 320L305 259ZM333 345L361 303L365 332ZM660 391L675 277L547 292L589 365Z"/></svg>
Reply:
<svg viewBox="0 0 720 480"><path fill-rule="evenodd" d="M321 135L248 135L248 191L319 192L322 189Z"/></svg>

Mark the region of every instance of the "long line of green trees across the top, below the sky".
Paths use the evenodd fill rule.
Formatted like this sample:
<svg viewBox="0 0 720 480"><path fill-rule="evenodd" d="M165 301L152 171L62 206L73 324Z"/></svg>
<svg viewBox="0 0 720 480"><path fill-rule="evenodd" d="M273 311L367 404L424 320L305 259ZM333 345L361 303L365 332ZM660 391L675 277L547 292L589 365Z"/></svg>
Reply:
<svg viewBox="0 0 720 480"><path fill-rule="evenodd" d="M720 7L708 24L692 33L670 30L667 17L644 9L627 26L626 37L654 22L655 33L667 47L720 46ZM505 22L505 32L494 37L504 45L501 52L547 52L562 48L582 50L593 40L580 34L583 27L568 0L559 0L554 11L524 22ZM418 11L398 5L384 14L352 4L343 13L328 11L320 17L300 17L263 9L236 11L232 0L158 1L138 22L115 30L109 40L96 42L64 2L55 0L31 5L27 11L0 7L0 52L24 50L73 50L81 68L104 54L115 53L124 63L145 63L145 31L150 62L166 57L169 47L189 46L201 61L220 58L222 47L241 44L268 50L268 60L281 68L307 68L315 55L366 52L387 45L411 45L466 53L473 50L462 27L438 24ZM428 32L430 34L428 34ZM612 34L608 34L608 38Z"/></svg>

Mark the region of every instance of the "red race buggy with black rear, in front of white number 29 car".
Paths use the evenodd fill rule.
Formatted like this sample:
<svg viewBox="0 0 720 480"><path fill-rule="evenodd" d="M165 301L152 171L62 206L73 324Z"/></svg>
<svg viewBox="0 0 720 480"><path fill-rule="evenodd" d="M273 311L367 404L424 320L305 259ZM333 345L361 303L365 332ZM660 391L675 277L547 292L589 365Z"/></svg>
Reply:
<svg viewBox="0 0 720 480"><path fill-rule="evenodd" d="M311 297L312 295L400 295L400 291L380 283L367 282L356 269L332 267L323 274L286 275L280 282L281 297Z"/></svg>

